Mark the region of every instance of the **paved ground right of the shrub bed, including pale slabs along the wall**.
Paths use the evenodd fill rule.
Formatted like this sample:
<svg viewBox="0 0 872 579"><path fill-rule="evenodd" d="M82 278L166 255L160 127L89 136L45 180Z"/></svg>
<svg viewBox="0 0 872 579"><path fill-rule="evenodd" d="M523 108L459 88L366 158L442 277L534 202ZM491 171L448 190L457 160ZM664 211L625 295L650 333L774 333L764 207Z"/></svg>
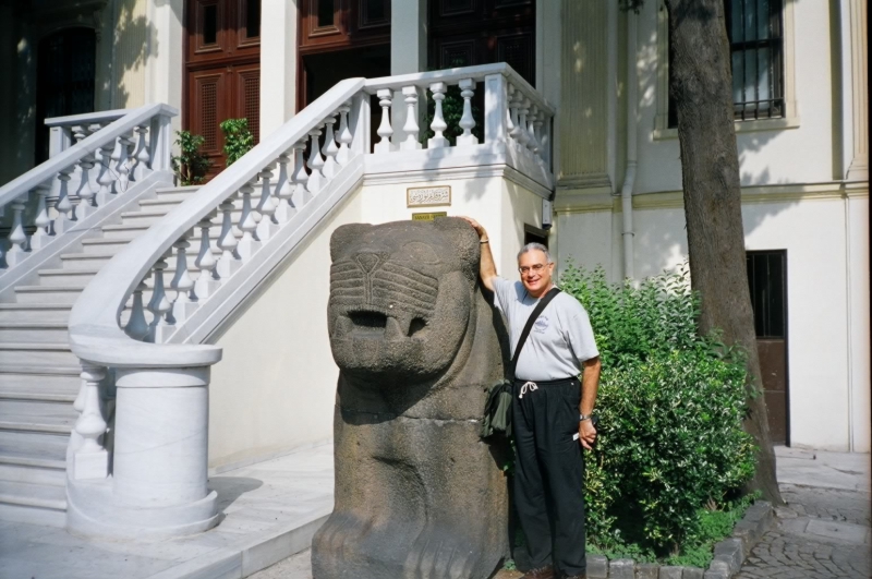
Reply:
<svg viewBox="0 0 872 579"><path fill-rule="evenodd" d="M737 578L872 577L869 475L869 455L782 449L787 505Z"/></svg>

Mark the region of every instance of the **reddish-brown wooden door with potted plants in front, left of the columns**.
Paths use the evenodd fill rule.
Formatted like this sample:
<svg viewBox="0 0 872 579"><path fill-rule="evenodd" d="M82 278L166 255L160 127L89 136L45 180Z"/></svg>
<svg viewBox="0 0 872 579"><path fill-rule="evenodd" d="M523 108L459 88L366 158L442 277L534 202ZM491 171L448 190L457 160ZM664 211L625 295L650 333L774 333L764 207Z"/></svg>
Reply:
<svg viewBox="0 0 872 579"><path fill-rule="evenodd" d="M261 138L261 0L186 1L185 76L182 125L205 138L211 177L227 160L222 121L245 118Z"/></svg>

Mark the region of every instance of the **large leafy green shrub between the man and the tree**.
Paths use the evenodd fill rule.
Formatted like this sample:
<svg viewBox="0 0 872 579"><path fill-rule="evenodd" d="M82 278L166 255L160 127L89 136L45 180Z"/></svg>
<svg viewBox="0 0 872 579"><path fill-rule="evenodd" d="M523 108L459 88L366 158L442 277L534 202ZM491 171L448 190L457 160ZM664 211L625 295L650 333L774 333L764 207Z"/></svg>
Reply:
<svg viewBox="0 0 872 579"><path fill-rule="evenodd" d="M640 560L679 556L699 543L701 509L720 509L753 474L743 359L698 335L687 268L634 288L570 266L560 286L588 310L603 362L589 541Z"/></svg>

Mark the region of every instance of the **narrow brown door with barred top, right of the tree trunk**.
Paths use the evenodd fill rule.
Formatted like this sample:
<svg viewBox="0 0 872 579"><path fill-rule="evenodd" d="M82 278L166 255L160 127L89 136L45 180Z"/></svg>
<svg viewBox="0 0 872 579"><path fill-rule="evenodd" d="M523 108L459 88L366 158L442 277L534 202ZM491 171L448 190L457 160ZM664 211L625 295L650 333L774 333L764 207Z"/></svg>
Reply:
<svg viewBox="0 0 872 579"><path fill-rule="evenodd" d="M747 264L770 434L773 443L789 445L787 252L749 251Z"/></svg>

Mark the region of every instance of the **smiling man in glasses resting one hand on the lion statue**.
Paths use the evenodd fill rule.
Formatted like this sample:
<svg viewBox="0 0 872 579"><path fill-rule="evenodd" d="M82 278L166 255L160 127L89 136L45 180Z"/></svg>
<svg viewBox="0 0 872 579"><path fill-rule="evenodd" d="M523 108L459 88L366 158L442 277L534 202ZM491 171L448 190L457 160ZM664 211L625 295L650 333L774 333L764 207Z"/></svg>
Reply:
<svg viewBox="0 0 872 579"><path fill-rule="evenodd" d="M509 323L511 351L538 300L554 287L547 248L518 253L521 281L497 276L487 232L464 217L482 244L480 276ZM582 383L578 374L582 373ZM533 325L514 371L514 505L533 569L522 579L584 577L584 462L596 439L591 415L600 352L584 307L558 293ZM583 384L583 387L582 387Z"/></svg>

